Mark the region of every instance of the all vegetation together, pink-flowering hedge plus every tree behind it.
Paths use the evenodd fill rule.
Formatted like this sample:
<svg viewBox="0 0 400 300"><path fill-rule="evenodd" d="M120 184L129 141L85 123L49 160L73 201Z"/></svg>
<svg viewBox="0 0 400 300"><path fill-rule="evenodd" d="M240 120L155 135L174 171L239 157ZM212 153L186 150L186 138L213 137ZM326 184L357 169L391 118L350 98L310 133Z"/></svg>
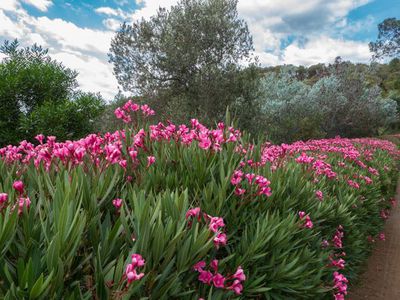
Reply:
<svg viewBox="0 0 400 300"><path fill-rule="evenodd" d="M123 24L133 101L4 43L1 299L345 298L396 205L398 148L359 137L399 128L400 21L370 44L388 63L263 68L236 6Z"/></svg>

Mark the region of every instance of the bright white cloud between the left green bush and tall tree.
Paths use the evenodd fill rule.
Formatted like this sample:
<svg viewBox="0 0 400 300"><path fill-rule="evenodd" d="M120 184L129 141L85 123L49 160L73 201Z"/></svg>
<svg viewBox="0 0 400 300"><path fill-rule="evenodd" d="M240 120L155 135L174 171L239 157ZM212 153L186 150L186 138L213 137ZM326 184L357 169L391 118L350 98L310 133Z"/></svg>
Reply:
<svg viewBox="0 0 400 300"><path fill-rule="evenodd" d="M79 72L84 91L112 99L118 83L108 63L112 31L78 27L62 19L33 17L16 1L0 0L0 37L18 38L22 46L37 43L49 48L52 58Z"/></svg>

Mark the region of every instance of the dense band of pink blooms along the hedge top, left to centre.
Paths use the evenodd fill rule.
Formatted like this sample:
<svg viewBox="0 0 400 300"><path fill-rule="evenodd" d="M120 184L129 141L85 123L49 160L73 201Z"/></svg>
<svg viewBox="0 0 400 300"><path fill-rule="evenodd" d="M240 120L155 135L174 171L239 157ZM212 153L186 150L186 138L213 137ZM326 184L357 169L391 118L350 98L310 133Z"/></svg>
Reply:
<svg viewBox="0 0 400 300"><path fill-rule="evenodd" d="M128 112L141 110L145 115L151 115L152 110L147 105L138 106L127 102L122 108L116 110L117 117L130 121ZM193 119L192 126L159 123L152 125L149 130L143 128L135 130L119 130L114 133L107 132L104 135L90 134L77 141L56 142L53 136L45 137L42 134L36 136L39 145L35 146L27 141L22 141L18 146L6 146L0 148L0 159L12 164L18 162L21 167L34 163L39 168L43 165L46 170L52 166L57 169L61 162L63 165L80 166L91 165L99 170L104 170L111 165L120 165L127 169L130 166L136 168L143 164L141 156L147 157L147 168L155 163L155 157L150 155L146 147L154 141L174 140L177 144L197 146L207 151L221 151L224 144L240 144L241 133L233 127L226 128L223 123L218 124L217 129L209 129L198 120ZM128 140L132 142L128 145ZM46 140L46 142L45 142ZM143 154L142 154L143 153Z"/></svg>

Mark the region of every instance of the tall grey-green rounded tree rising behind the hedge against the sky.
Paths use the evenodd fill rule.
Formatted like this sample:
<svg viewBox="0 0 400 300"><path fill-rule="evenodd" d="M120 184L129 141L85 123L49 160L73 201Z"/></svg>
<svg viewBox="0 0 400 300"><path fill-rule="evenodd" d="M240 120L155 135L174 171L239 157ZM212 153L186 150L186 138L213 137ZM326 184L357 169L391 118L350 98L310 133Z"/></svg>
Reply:
<svg viewBox="0 0 400 300"><path fill-rule="evenodd" d="M153 106L167 115L179 109L183 116L221 118L238 97L239 62L250 61L253 49L237 2L181 0L149 20L123 24L109 54L119 84L157 99Z"/></svg>

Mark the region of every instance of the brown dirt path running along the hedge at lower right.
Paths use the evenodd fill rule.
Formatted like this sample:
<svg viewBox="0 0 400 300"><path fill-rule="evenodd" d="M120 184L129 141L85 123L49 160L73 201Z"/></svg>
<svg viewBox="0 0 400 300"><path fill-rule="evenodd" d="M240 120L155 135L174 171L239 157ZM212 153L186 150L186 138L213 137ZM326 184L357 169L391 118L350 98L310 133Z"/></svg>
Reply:
<svg viewBox="0 0 400 300"><path fill-rule="evenodd" d="M377 242L368 260L360 285L348 296L351 300L400 300L400 184L398 205L385 225L386 241Z"/></svg>

